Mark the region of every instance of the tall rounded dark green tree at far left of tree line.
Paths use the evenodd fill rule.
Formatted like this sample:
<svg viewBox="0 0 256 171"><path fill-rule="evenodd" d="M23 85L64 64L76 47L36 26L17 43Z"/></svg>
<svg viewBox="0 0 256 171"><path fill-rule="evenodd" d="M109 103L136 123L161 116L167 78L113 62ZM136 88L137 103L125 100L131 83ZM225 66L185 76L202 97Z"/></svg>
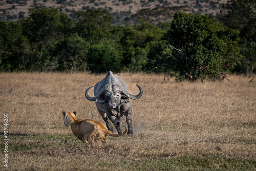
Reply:
<svg viewBox="0 0 256 171"><path fill-rule="evenodd" d="M65 36L69 36L71 19L54 8L32 8L28 19L22 18L18 23L23 27L23 34L30 44L26 70L54 70L55 61L52 61L51 51Z"/></svg>

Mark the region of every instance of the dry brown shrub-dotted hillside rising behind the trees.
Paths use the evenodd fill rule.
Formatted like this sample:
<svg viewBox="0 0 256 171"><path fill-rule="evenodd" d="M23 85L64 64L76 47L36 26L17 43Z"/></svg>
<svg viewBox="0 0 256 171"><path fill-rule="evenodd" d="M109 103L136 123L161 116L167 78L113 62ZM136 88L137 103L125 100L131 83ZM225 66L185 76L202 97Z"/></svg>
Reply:
<svg viewBox="0 0 256 171"><path fill-rule="evenodd" d="M145 0L83 0L83 1L66 1L66 0L26 0L26 1L0 1L0 18L7 19L14 17L17 19L20 14L28 16L28 10L33 7L58 8L60 11L71 14L74 11L84 11L92 8L102 8L110 13L131 12L137 13L142 9L154 9L160 6L169 7L186 7L187 12L208 14L216 16L219 13L221 4L227 3L227 0L165 0L165 1L145 1ZM120 13L120 14L121 14ZM119 16L119 15L118 15ZM119 16L120 17L120 16Z"/></svg>

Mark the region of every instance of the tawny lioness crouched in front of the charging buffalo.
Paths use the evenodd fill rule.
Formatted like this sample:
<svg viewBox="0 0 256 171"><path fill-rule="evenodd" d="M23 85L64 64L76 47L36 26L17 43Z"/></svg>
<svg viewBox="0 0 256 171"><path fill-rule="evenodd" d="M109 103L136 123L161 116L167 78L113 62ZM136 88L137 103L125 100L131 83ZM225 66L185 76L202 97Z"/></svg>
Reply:
<svg viewBox="0 0 256 171"><path fill-rule="evenodd" d="M82 142L88 143L89 140L96 142L101 140L102 143L106 143L106 136L120 137L127 132L127 127L121 123L120 125L125 127L125 131L122 134L114 134L110 132L106 126L96 120L92 119L78 119L76 117L76 111L73 113L62 111L63 120L66 127L71 126L71 130L74 136L76 136Z"/></svg>

